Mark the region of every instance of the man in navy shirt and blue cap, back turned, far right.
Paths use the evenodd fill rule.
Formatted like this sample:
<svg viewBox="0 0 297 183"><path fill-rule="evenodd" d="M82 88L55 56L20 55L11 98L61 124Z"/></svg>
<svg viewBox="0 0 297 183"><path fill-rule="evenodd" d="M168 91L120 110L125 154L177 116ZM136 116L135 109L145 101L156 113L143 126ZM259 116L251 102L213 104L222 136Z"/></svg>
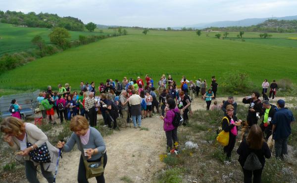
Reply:
<svg viewBox="0 0 297 183"><path fill-rule="evenodd" d="M288 154L288 138L291 134L291 123L295 121L291 110L285 108L285 101L277 101L277 108L272 120L272 134L275 140L275 157L284 158Z"/></svg>

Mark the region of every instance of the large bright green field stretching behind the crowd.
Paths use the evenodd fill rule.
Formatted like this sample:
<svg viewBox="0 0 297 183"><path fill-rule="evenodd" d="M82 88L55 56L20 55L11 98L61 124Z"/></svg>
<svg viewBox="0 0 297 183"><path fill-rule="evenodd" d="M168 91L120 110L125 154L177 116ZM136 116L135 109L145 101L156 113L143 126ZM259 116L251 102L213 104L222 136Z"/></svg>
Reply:
<svg viewBox="0 0 297 183"><path fill-rule="evenodd" d="M257 38L259 33L245 33L246 41L217 39L211 33L198 37L194 32L128 30L127 36L111 37L44 57L0 75L0 89L45 89L58 83L70 83L77 89L81 80L144 77L157 81L164 73L177 81L208 79L222 73L248 73L259 86L264 78L290 78L297 82L297 41L286 39L297 34L273 34ZM222 34L222 33L221 33ZM238 33L230 33L236 37ZM237 38L235 38L237 39ZM257 40L257 41L254 41ZM282 41L280 44L279 41ZM286 42L287 41L287 42Z"/></svg>

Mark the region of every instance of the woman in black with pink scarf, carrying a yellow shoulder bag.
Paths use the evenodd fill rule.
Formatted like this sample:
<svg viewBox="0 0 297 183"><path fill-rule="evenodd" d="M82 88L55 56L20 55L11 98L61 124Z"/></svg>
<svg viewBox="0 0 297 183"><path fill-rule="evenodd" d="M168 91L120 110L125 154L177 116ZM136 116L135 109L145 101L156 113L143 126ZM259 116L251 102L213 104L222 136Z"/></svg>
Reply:
<svg viewBox="0 0 297 183"><path fill-rule="evenodd" d="M228 105L226 107L227 114L222 119L222 130L229 132L229 143L224 146L224 153L226 153L226 160L231 161L231 152L235 146L237 136L237 126L241 125L242 120L237 121L237 117L233 115L234 107Z"/></svg>

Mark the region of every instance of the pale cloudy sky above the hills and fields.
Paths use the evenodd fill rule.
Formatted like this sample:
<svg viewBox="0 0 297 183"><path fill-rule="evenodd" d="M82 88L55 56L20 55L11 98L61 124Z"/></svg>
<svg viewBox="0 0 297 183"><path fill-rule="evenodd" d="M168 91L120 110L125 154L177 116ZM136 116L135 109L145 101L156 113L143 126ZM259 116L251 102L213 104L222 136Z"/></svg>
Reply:
<svg viewBox="0 0 297 183"><path fill-rule="evenodd" d="M183 27L297 15L297 0L0 0L0 10L72 16L85 24Z"/></svg>

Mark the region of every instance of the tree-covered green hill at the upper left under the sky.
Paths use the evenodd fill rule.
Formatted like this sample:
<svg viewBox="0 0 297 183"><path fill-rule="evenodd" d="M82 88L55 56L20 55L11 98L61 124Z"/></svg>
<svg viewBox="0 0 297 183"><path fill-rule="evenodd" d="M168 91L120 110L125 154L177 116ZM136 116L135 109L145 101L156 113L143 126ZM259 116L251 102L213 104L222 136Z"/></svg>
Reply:
<svg viewBox="0 0 297 183"><path fill-rule="evenodd" d="M62 27L69 31L84 31L84 23L74 17L59 17L57 14L0 10L0 22L25 27L53 28Z"/></svg>

